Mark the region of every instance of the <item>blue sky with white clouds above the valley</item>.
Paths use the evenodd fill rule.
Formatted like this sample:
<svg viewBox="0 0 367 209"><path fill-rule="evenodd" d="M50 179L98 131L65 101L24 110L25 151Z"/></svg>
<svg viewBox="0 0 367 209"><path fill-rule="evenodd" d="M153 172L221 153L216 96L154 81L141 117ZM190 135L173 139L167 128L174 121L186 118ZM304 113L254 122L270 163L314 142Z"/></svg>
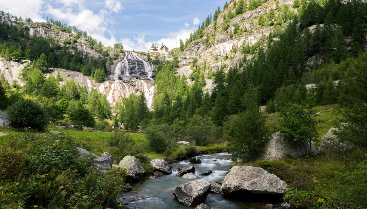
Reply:
<svg viewBox="0 0 367 209"><path fill-rule="evenodd" d="M147 51L185 41L225 0L0 0L0 10L44 22L47 17L86 31L105 46Z"/></svg>

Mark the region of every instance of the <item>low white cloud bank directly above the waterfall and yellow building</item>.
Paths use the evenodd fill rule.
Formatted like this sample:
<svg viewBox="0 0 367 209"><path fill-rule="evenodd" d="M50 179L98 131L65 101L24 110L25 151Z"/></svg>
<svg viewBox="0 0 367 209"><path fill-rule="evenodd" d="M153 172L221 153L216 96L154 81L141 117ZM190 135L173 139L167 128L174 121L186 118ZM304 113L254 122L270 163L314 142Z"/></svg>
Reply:
<svg viewBox="0 0 367 209"><path fill-rule="evenodd" d="M181 29L179 32L172 33L168 38L161 38L156 41L145 41L145 34L141 34L138 37L134 37L133 40L130 38L122 38L121 43L124 45L126 50L132 51L147 51L148 48L154 43L155 45L159 45L164 43L169 49L179 47L179 40L182 39L183 41L186 38L190 37L190 33L194 32L193 29Z"/></svg>

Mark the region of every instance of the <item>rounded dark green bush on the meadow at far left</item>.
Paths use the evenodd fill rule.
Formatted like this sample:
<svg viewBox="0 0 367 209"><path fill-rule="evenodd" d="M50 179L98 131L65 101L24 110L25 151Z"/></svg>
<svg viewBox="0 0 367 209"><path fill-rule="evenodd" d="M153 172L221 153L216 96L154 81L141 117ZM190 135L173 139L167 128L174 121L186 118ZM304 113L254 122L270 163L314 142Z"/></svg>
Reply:
<svg viewBox="0 0 367 209"><path fill-rule="evenodd" d="M8 107L6 112L9 125L14 128L32 128L43 131L48 125L46 111L39 104L29 99L15 102Z"/></svg>

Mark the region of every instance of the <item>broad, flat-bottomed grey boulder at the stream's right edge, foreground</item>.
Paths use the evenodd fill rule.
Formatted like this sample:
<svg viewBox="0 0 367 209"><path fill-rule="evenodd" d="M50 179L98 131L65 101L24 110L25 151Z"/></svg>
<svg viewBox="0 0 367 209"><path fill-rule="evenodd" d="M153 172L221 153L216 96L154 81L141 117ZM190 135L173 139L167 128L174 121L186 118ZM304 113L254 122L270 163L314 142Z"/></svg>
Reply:
<svg viewBox="0 0 367 209"><path fill-rule="evenodd" d="M226 196L244 194L283 195L288 185L262 168L233 166L224 178L222 193Z"/></svg>

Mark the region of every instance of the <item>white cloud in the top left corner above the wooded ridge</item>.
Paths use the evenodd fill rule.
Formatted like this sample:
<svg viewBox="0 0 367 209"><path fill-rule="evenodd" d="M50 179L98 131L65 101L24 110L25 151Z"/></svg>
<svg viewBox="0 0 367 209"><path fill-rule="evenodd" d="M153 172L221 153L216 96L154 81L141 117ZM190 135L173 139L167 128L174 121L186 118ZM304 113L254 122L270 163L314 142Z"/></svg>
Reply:
<svg viewBox="0 0 367 209"><path fill-rule="evenodd" d="M0 0L0 10L7 11L23 19L31 18L34 22L44 22L41 17L43 0Z"/></svg>

